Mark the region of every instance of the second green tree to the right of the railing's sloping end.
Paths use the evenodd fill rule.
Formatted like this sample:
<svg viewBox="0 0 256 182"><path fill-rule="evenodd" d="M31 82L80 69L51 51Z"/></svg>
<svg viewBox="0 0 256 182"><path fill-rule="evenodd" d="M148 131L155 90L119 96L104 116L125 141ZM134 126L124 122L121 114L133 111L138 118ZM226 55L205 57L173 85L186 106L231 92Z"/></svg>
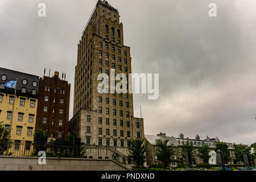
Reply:
<svg viewBox="0 0 256 182"><path fill-rule="evenodd" d="M164 168L169 166L175 153L174 144L168 144L168 142L168 139L156 140L156 156L158 160L164 163Z"/></svg>

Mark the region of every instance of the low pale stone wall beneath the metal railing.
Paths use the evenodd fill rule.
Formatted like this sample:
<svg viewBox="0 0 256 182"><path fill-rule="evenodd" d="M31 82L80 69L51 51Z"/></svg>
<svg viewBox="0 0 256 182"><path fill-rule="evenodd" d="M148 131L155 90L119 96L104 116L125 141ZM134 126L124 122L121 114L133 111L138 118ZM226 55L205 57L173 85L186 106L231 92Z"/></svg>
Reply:
<svg viewBox="0 0 256 182"><path fill-rule="evenodd" d="M108 159L46 158L46 165L38 164L38 157L0 156L0 171L127 171L129 169Z"/></svg>

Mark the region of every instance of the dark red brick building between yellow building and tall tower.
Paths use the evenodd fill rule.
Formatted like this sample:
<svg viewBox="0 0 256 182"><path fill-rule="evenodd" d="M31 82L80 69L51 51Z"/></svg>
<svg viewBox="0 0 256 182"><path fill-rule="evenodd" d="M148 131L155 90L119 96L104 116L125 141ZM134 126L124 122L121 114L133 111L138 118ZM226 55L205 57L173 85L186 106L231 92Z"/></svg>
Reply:
<svg viewBox="0 0 256 182"><path fill-rule="evenodd" d="M36 128L42 129L51 139L67 136L70 88L68 81L60 79L59 72L39 80Z"/></svg>

